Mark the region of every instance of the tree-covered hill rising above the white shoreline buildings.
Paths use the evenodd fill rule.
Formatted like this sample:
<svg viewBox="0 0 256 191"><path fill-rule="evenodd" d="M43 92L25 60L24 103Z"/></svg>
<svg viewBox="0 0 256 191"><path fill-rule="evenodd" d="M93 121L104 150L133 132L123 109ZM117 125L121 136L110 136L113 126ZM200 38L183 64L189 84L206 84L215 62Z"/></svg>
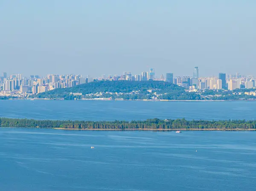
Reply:
<svg viewBox="0 0 256 191"><path fill-rule="evenodd" d="M132 91L139 91L137 99L148 99L148 90L156 90L157 93L173 93L182 94L184 88L172 83L162 81L94 81L85 83L71 88L56 88L52 91L46 91L36 95L37 98L64 98L74 99L76 96L70 93L96 94L97 92L116 92L116 93L130 93ZM107 95L108 96L108 95ZM111 97L111 96L110 96ZM128 96L129 97L129 96ZM131 96L130 96L131 97ZM134 99L134 98L133 98Z"/></svg>

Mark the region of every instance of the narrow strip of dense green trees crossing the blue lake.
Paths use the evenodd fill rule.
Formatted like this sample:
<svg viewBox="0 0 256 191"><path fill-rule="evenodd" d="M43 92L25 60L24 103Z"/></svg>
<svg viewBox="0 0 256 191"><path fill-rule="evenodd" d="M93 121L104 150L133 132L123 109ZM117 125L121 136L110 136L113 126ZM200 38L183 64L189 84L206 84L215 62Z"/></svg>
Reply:
<svg viewBox="0 0 256 191"><path fill-rule="evenodd" d="M256 129L256 120L61 121L0 118L0 127L73 129Z"/></svg>

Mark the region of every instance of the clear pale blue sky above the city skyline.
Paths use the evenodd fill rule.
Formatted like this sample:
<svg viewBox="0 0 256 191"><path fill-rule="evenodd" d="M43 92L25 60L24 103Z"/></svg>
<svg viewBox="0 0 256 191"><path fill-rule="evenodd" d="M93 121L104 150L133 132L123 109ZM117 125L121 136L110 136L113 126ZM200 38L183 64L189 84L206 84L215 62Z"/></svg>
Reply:
<svg viewBox="0 0 256 191"><path fill-rule="evenodd" d="M0 0L0 76L256 76L256 0Z"/></svg>

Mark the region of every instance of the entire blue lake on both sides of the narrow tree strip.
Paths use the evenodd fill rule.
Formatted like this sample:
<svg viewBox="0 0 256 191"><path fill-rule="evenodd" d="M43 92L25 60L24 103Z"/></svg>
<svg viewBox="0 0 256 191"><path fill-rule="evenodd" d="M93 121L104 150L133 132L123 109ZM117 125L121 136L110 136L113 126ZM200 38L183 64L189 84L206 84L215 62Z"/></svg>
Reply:
<svg viewBox="0 0 256 191"><path fill-rule="evenodd" d="M255 106L3 100L0 117L250 120ZM255 180L256 132L0 128L0 191L254 191Z"/></svg>

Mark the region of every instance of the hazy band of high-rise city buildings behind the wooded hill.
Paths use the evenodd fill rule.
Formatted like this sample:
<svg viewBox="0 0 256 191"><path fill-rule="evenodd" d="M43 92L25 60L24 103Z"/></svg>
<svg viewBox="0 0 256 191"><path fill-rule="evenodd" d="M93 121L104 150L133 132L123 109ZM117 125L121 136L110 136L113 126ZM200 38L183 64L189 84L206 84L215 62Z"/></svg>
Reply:
<svg viewBox="0 0 256 191"><path fill-rule="evenodd" d="M102 77L89 77L80 74L48 74L45 77L39 75L30 75L24 77L22 74L8 75L3 72L0 77L0 95L29 96L31 94L39 94L55 88L70 88L84 83L92 82L93 80L127 80L127 81L148 81L159 80L174 83L185 89L196 91L198 89L212 90L231 90L240 88L253 88L256 85L256 78L245 77L240 73L235 75L227 75L220 72L218 77L200 77L198 66L194 67L192 76L175 76L174 73L166 73L166 76L161 74L161 77L155 77L154 68L149 68L149 71L142 71L139 74L132 74L131 71L124 71L122 75L105 75Z"/></svg>

